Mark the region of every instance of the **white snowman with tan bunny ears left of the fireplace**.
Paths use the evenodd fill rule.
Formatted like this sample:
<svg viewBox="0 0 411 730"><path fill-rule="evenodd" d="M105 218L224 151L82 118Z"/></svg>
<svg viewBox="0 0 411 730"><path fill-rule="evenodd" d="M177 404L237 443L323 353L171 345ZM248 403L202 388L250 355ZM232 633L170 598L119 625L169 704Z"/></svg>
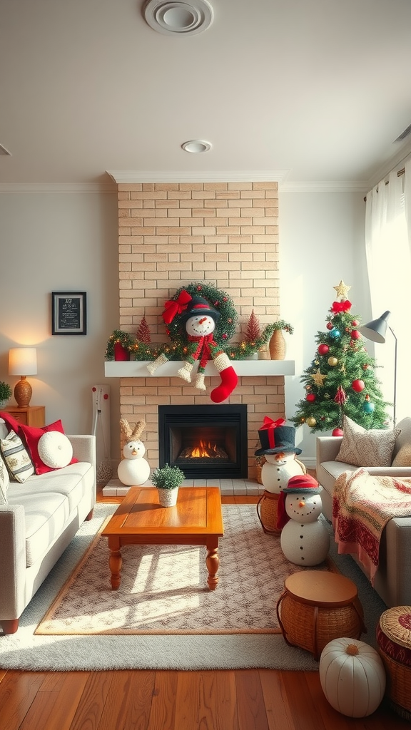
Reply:
<svg viewBox="0 0 411 730"><path fill-rule="evenodd" d="M150 466L143 458L146 447L140 441L140 436L146 428L146 422L139 420L132 429L128 420L121 418L120 428L126 437L126 443L123 447L124 459L120 461L117 468L118 479L127 486L139 486L144 484L150 476Z"/></svg>

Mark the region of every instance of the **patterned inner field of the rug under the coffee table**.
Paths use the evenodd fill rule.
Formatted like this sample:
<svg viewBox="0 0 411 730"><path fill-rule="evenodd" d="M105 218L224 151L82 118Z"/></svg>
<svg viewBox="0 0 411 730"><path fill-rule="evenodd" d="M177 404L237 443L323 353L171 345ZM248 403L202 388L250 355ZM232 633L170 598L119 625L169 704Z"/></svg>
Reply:
<svg viewBox="0 0 411 730"><path fill-rule="evenodd" d="M284 557L279 535L263 532L255 505L227 504L222 513L215 591L206 583L206 548L189 545L125 546L112 591L108 541L97 536L35 633L280 633L276 602L287 575L303 568Z"/></svg>

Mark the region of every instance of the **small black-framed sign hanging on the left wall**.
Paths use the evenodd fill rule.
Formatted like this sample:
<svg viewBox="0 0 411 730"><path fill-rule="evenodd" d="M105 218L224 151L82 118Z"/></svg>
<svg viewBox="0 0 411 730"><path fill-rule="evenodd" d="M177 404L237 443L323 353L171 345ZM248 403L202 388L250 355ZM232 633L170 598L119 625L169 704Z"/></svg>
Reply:
<svg viewBox="0 0 411 730"><path fill-rule="evenodd" d="M52 291L51 334L87 334L85 291Z"/></svg>

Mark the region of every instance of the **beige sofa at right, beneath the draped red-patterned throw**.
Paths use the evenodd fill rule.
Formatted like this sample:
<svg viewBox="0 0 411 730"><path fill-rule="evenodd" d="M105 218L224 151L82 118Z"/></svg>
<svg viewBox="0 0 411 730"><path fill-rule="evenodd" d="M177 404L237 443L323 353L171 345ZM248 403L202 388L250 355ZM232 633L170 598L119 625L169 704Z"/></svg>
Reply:
<svg viewBox="0 0 411 730"><path fill-rule="evenodd" d="M411 449L411 418L404 418L396 428L401 429L401 433L396 438L392 460L396 458L401 447L410 445ZM341 444L342 437L317 437L317 480L323 486L321 493L323 514L330 522L332 521L333 486L336 478L343 472L354 472L355 469L358 469L358 466L346 464L344 461L335 461ZM365 468L367 472L375 476L411 477L411 466L366 466ZM379 566L374 578L374 588L388 607L411 605L410 556L411 516L392 518L382 533ZM352 558L363 569L355 556Z"/></svg>

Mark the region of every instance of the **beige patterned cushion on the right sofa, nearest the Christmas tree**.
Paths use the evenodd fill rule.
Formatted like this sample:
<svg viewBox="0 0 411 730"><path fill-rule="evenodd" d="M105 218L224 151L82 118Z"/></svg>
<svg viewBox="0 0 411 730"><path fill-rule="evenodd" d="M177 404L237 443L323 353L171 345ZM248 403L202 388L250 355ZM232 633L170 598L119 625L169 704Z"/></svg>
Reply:
<svg viewBox="0 0 411 730"><path fill-rule="evenodd" d="M353 466L391 466L396 438L401 429L363 429L344 416L343 437L336 461Z"/></svg>

